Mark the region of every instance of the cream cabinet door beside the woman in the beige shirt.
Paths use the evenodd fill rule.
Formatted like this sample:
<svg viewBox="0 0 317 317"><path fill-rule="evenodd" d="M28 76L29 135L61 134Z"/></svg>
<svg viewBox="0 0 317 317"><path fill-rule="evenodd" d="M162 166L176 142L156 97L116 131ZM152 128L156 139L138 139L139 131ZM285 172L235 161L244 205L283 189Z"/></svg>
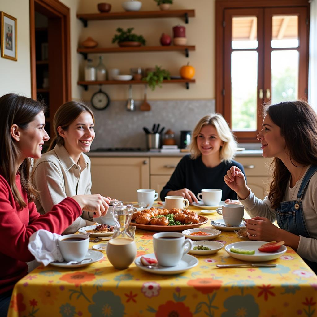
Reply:
<svg viewBox="0 0 317 317"><path fill-rule="evenodd" d="M90 157L93 194L136 201L136 190L149 188L148 157Z"/></svg>

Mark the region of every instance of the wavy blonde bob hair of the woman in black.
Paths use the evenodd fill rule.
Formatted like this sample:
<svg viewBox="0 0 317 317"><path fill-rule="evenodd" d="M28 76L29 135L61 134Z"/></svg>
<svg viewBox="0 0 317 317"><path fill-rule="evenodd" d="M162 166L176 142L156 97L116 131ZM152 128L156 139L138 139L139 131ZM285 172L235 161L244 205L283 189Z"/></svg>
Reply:
<svg viewBox="0 0 317 317"><path fill-rule="evenodd" d="M220 160L231 163L234 158L237 148L237 142L232 134L228 123L224 120L220 113L212 113L204 116L199 120L192 133L189 150L191 152L191 159L197 159L201 156L201 152L197 146L197 137L203 126L214 126L217 130L219 138L223 141L223 146L220 147Z"/></svg>

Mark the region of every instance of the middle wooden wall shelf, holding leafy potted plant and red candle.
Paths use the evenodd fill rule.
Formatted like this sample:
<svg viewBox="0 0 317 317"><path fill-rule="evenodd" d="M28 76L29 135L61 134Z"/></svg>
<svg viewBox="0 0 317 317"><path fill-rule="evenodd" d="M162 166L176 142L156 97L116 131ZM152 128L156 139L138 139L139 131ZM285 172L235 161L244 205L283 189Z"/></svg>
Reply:
<svg viewBox="0 0 317 317"><path fill-rule="evenodd" d="M87 59L88 53L125 53L125 52L169 52L169 51L184 51L185 56L189 57L189 51L194 51L195 45L171 45L171 46L132 46L132 47L97 47L94 49L77 49L78 53L81 53L85 59Z"/></svg>

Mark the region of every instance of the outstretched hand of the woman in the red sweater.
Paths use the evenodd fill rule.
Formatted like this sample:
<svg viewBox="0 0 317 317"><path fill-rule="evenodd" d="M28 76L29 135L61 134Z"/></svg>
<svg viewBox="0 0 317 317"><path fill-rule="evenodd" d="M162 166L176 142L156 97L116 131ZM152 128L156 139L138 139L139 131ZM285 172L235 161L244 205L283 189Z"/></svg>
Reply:
<svg viewBox="0 0 317 317"><path fill-rule="evenodd" d="M108 208L110 197L103 197L96 195L76 195L72 197L81 206L81 209L86 211L93 211L94 218L105 216Z"/></svg>

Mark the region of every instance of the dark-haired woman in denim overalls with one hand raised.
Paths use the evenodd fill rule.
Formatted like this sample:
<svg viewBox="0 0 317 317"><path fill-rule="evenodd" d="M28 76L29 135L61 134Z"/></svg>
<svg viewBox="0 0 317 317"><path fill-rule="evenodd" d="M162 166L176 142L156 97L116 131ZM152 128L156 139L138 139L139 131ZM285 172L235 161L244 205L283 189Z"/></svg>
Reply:
<svg viewBox="0 0 317 317"><path fill-rule="evenodd" d="M274 158L268 196L260 200L233 166L224 177L253 217L250 240L284 241L317 272L317 115L304 101L286 101L264 109L263 157ZM277 221L280 228L272 222Z"/></svg>

